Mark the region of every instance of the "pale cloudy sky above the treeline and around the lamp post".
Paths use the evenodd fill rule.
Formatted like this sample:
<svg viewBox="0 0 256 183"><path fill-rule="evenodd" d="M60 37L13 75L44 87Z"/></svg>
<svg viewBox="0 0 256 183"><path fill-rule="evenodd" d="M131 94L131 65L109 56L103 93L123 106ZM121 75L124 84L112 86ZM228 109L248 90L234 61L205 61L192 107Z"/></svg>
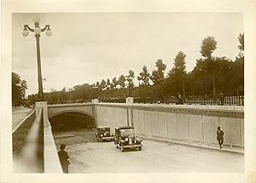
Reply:
<svg viewBox="0 0 256 183"><path fill-rule="evenodd" d="M239 13L13 14L12 71L26 80L27 94L38 93L36 40L33 32L23 37L22 31L25 24L34 27L36 15L41 28L52 30L51 37L45 32L40 37L44 92L118 78L129 70L137 78L143 65L151 73L158 59L167 65L167 74L179 51L192 71L207 36L218 41L213 56L234 60L243 32Z"/></svg>

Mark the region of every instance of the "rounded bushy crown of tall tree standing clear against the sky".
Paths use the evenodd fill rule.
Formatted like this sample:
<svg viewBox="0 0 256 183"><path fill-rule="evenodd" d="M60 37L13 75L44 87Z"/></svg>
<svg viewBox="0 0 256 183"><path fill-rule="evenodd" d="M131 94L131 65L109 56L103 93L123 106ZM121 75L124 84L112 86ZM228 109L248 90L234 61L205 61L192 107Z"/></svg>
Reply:
<svg viewBox="0 0 256 183"><path fill-rule="evenodd" d="M214 37L206 37L201 42L201 55L207 59L212 59L213 51L217 49L217 41Z"/></svg>

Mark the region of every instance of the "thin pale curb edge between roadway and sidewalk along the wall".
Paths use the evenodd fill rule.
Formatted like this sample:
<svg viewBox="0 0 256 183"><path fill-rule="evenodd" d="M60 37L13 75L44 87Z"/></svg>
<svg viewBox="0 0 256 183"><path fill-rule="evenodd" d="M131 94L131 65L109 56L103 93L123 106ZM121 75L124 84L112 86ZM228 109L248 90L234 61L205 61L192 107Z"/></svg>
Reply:
<svg viewBox="0 0 256 183"><path fill-rule="evenodd" d="M213 147L213 146L203 146L203 145L197 145L197 144L189 144L186 142L180 142L180 141L173 141L173 140L160 140L160 139L154 139L154 138L150 138L150 137L143 137L144 139L148 139L148 140L158 140L158 141L165 141L165 142L169 142L169 143L173 143L173 144L177 144L177 145L183 145L183 146L195 146L195 147L201 147L204 149L210 149L210 150L215 150L218 152L231 152L231 153L237 153L237 154L242 154L244 155L244 151L239 151L239 150L231 150L231 149L219 149L217 147Z"/></svg>

